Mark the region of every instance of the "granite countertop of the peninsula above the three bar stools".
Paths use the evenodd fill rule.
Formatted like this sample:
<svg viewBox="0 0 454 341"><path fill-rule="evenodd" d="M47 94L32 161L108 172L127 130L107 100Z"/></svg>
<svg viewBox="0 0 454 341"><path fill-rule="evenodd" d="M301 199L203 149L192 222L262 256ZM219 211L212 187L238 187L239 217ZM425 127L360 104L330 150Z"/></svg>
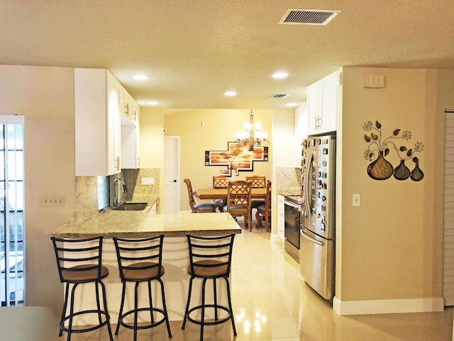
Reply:
<svg viewBox="0 0 454 341"><path fill-rule="evenodd" d="M241 228L228 213L148 215L143 211L102 210L75 222L62 224L48 237L85 238L103 235L106 238L143 238L159 234L185 237L186 234L209 236L230 233L241 233Z"/></svg>

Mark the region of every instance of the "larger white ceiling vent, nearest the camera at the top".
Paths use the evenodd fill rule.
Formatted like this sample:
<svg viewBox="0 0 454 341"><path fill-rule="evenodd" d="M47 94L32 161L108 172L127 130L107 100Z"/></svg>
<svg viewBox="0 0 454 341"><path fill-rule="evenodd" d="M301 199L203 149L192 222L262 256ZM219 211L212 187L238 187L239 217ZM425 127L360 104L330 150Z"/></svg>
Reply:
<svg viewBox="0 0 454 341"><path fill-rule="evenodd" d="M326 25L341 11L325 9L287 9L279 23L290 25Z"/></svg>

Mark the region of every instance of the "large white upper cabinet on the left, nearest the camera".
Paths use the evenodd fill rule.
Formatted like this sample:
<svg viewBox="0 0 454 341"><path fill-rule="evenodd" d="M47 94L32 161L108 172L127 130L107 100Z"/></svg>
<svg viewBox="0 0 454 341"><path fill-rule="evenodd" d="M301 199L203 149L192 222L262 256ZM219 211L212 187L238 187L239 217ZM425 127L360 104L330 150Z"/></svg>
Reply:
<svg viewBox="0 0 454 341"><path fill-rule="evenodd" d="M105 69L74 69L76 175L121 171L121 84Z"/></svg>

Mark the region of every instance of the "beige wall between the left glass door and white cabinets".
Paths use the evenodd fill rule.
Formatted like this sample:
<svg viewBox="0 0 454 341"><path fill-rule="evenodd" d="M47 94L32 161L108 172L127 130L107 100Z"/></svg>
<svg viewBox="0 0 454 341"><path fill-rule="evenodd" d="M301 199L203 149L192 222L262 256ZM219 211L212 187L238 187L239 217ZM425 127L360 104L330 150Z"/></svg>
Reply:
<svg viewBox="0 0 454 341"><path fill-rule="evenodd" d="M0 66L0 114L25 115L26 304L60 310L63 286L46 234L74 220L74 71ZM38 207L65 195L64 207Z"/></svg>

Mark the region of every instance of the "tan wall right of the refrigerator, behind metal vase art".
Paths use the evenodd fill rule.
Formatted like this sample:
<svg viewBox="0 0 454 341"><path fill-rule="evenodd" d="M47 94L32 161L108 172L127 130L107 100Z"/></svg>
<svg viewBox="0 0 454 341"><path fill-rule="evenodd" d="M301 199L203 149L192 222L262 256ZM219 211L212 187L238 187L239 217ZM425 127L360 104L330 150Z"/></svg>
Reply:
<svg viewBox="0 0 454 341"><path fill-rule="evenodd" d="M362 87L365 74L384 75L386 86ZM441 297L443 197L436 183L442 183L443 167L434 165L442 165L443 130L436 125L443 113L437 108L436 75L435 70L343 69L336 253L336 296L341 301ZM372 180L367 175L362 126L376 120L384 136L394 129L411 131L411 140L395 140L398 146L423 143L423 151L415 154L423 180ZM387 160L399 164L393 150ZM411 170L414 163L406 161L406 166ZM361 195L360 207L352 207L353 193Z"/></svg>

